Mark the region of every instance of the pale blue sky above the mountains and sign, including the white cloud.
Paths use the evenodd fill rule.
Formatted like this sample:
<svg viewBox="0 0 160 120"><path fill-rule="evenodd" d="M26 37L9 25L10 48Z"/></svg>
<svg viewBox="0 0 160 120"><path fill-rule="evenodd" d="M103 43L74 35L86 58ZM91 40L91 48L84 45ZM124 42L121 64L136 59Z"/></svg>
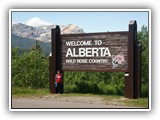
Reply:
<svg viewBox="0 0 160 120"><path fill-rule="evenodd" d="M130 20L137 21L138 30L142 25L148 27L148 12L12 12L13 23L74 24L85 32L128 31Z"/></svg>

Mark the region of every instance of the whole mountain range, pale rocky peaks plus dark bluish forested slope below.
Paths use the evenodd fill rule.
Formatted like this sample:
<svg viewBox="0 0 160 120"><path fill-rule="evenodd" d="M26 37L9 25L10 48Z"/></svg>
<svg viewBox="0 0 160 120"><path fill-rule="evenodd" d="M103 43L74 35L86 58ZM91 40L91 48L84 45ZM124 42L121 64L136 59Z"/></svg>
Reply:
<svg viewBox="0 0 160 120"><path fill-rule="evenodd" d="M35 44L36 40L42 48L42 52L48 56L51 51L51 29L56 25L44 25L39 27L29 26L22 23L12 25L11 43L12 47L18 47L20 51L29 51ZM60 25L61 34L84 33L83 29L69 24Z"/></svg>

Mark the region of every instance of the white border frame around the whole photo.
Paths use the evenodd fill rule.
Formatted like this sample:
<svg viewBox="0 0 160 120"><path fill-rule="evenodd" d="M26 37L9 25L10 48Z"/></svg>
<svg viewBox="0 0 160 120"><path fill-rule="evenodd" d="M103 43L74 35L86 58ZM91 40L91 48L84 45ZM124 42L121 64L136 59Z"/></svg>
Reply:
<svg viewBox="0 0 160 120"><path fill-rule="evenodd" d="M43 12L49 12L49 11L63 11L63 12L71 12L71 11L81 11L81 12L91 12L91 11L115 11L115 12L123 12L123 11L127 11L127 12L132 12L132 11L139 11L139 12L148 12L148 28L149 28L149 106L148 109L139 109L139 108L135 108L135 109L130 109L130 108L125 108L125 109L117 109L117 108L113 108L113 109L49 109L49 108L44 108L44 109L16 109L16 108L12 108L11 106L11 102L12 102L12 97L11 97L11 27L12 27L12 12L18 12L18 11L24 11L24 12L38 12L38 11L43 11ZM10 111L150 111L151 110L151 10L150 9L10 9L9 10L9 110Z"/></svg>

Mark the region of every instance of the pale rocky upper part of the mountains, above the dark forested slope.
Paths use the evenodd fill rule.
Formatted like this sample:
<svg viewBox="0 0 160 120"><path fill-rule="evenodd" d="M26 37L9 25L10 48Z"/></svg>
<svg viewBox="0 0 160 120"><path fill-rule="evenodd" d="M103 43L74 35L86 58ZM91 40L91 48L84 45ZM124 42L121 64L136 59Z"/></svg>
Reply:
<svg viewBox="0 0 160 120"><path fill-rule="evenodd" d="M35 39L43 42L51 41L51 29L55 28L56 25L46 25L46 26L29 26L22 23L16 23L12 25L12 34L25 37L29 39ZM60 25L61 34L73 34L73 33L84 33L83 29L69 24L67 26Z"/></svg>

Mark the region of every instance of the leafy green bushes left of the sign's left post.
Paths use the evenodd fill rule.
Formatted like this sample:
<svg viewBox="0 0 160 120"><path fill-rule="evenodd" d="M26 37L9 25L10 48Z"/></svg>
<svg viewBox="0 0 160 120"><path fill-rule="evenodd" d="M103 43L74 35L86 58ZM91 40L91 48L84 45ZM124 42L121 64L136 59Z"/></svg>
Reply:
<svg viewBox="0 0 160 120"><path fill-rule="evenodd" d="M12 86L45 88L49 86L48 59L38 50L17 56L12 49Z"/></svg>

